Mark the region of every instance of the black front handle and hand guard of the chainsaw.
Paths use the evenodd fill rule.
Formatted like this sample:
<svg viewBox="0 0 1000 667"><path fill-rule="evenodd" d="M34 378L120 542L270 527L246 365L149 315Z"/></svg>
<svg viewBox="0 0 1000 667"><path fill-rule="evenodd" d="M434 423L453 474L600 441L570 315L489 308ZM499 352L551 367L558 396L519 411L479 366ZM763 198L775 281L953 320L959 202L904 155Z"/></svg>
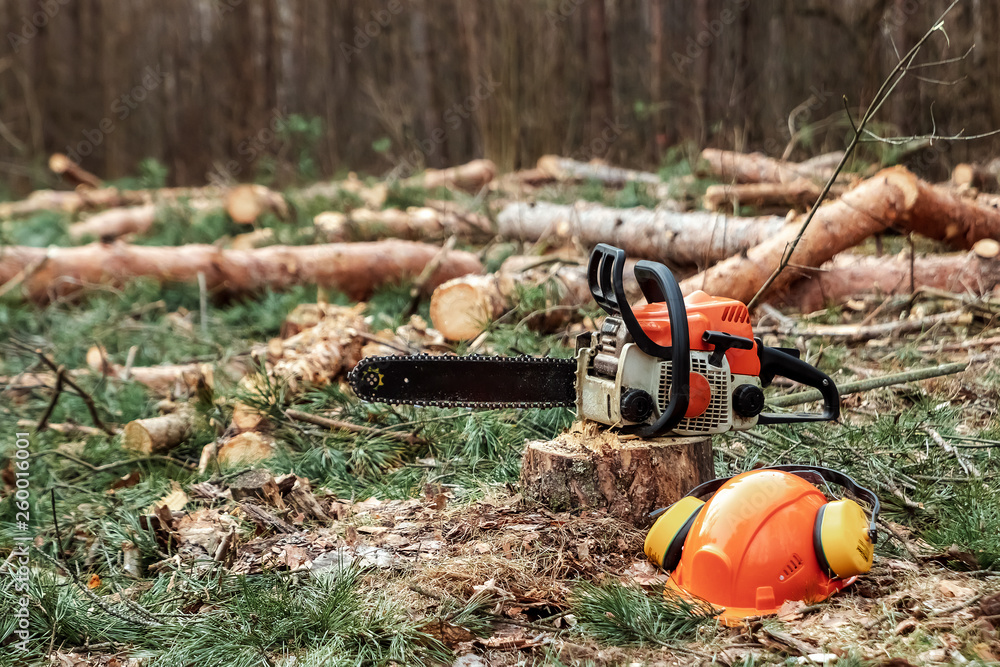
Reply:
<svg viewBox="0 0 1000 667"><path fill-rule="evenodd" d="M597 244L587 265L590 293L594 300L613 317L620 317L625 329L632 336L636 346L646 354L658 359L669 359L670 402L659 418L652 424L644 424L633 429L642 438L654 437L673 430L687 412L691 389L691 343L687 326L687 308L677 279L663 264L641 260L636 263L634 273L639 289L649 303L666 303L671 326L671 344L664 347L654 343L642 330L632 312L622 280L625 271L625 251L605 243Z"/></svg>

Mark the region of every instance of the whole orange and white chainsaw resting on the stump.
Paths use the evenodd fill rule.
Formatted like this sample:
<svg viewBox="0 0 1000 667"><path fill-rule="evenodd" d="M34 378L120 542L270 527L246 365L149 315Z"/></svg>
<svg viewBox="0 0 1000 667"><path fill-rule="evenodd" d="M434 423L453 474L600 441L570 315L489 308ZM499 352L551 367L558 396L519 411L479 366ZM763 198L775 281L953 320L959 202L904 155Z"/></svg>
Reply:
<svg viewBox="0 0 1000 667"><path fill-rule="evenodd" d="M625 295L625 251L599 244L587 277L607 313L599 332L576 339L572 359L501 356L383 356L348 375L359 398L438 407L575 407L582 419L639 437L693 436L757 424L836 420L833 380L798 350L765 347L734 299L696 291L686 298L670 270L639 261L646 304ZM765 412L763 388L782 376L818 389L821 412Z"/></svg>

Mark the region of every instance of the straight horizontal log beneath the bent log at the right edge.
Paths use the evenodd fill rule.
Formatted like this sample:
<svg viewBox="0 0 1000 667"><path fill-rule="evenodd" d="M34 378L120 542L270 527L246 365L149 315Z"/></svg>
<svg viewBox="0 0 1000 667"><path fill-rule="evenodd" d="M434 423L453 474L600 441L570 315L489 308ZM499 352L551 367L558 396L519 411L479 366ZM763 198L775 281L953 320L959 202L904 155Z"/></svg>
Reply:
<svg viewBox="0 0 1000 667"><path fill-rule="evenodd" d="M894 259L842 255L808 280L775 294L779 303L802 312L813 312L827 304L842 304L863 294L884 296L910 292L910 258ZM1000 261L974 252L917 257L913 262L913 286L933 287L959 294L987 295L1000 285Z"/></svg>

